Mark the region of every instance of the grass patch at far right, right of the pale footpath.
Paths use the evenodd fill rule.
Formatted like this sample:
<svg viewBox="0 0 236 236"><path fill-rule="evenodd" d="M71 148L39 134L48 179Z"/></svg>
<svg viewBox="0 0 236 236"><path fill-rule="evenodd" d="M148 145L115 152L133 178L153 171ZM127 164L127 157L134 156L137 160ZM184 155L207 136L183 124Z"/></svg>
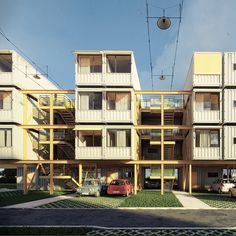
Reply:
<svg viewBox="0 0 236 236"><path fill-rule="evenodd" d="M205 202L210 207L215 208L236 208L236 198L230 198L228 194L218 194L212 192L193 193L193 196Z"/></svg>

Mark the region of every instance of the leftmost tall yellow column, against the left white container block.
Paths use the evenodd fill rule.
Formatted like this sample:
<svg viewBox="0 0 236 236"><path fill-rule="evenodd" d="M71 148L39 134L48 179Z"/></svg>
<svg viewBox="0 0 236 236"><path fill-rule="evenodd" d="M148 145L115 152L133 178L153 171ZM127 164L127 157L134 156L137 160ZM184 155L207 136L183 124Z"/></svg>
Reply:
<svg viewBox="0 0 236 236"><path fill-rule="evenodd" d="M23 94L23 124L27 125L27 94ZM27 160L27 129L23 129L23 160ZM23 165L23 193L27 194L28 183L27 183L27 165Z"/></svg>

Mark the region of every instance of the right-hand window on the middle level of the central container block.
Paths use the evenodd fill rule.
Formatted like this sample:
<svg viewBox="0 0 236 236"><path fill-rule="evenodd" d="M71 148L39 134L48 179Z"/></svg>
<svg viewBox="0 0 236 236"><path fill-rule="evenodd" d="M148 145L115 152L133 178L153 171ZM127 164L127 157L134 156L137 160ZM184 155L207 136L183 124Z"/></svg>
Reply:
<svg viewBox="0 0 236 236"><path fill-rule="evenodd" d="M107 110L127 111L130 108L130 93L107 92Z"/></svg>

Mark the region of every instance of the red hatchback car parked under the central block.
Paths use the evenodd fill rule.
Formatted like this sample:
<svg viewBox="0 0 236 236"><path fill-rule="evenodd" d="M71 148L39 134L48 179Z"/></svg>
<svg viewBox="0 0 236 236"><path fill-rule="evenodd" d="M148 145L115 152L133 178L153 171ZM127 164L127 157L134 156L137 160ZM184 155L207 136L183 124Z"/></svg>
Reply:
<svg viewBox="0 0 236 236"><path fill-rule="evenodd" d="M107 188L108 195L126 195L133 193L133 185L127 179L112 180Z"/></svg>

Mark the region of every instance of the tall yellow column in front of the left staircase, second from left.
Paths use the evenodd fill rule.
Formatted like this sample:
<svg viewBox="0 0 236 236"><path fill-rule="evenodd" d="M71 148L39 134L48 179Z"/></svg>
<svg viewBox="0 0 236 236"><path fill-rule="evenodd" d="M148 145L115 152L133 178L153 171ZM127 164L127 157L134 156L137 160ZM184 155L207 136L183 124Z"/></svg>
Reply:
<svg viewBox="0 0 236 236"><path fill-rule="evenodd" d="M50 110L49 110L49 115L50 115L50 125L54 124L54 112L53 112L53 101L54 100L54 95L50 94ZM50 128L50 138L49 138L49 159L50 161L53 160L54 158L54 145L53 145L53 139L54 139L54 129ZM54 188L54 184L53 184L53 164L50 164L50 184L49 184L49 188L50 188L50 194L53 194L53 188Z"/></svg>

